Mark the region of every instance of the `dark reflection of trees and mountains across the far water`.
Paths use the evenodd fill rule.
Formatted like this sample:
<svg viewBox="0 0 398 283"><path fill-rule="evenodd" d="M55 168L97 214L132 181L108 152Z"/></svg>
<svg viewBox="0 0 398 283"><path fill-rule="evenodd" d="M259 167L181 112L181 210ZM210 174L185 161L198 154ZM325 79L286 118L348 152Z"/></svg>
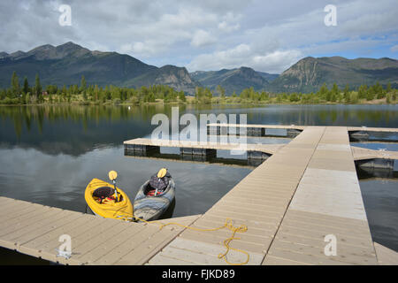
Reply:
<svg viewBox="0 0 398 283"><path fill-rule="evenodd" d="M151 133L157 113L170 119L173 105L83 106L42 105L0 107L0 142L51 153L79 155L94 145L121 145ZM394 105L179 105L180 115L248 114L249 124L398 127ZM51 148L51 149L50 149Z"/></svg>

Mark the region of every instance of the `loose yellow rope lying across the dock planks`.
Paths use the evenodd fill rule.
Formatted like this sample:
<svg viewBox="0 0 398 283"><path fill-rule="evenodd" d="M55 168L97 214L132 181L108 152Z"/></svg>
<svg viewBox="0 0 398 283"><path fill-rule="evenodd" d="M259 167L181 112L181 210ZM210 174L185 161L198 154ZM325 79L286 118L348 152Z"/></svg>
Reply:
<svg viewBox="0 0 398 283"><path fill-rule="evenodd" d="M162 229L162 228L165 227L165 226L169 226L169 225L176 225L176 226L180 226L180 227L183 227L183 228L186 228L186 229L191 229L191 230L200 231L200 232L217 231L217 230L221 230L221 229L223 229L223 228L227 228L227 229L229 229L229 230L232 231L232 235L231 235L231 237L227 238L227 239L224 241L224 245L226 246L226 252L225 252L224 254L223 254L223 253L218 254L218 258L224 258L224 260L226 261L226 263L227 263L227 264L231 264L231 265L244 265L244 264L248 264L248 263L249 263L249 253L248 253L248 252L246 252L246 251L244 251L244 250L242 250L242 249L234 249L234 248L232 248L232 247L229 246L229 243L230 243L231 241L233 241L233 240L240 240L240 239L241 239L241 238L235 238L235 237L234 237L234 236L235 236L235 233L243 233L243 232L248 231L248 226L241 225L241 226L239 226L239 227L234 227L234 226L233 226L233 220L232 220L231 218L226 218L226 223L225 223L223 226L219 226L219 227L217 227L217 228L208 228L208 229L206 229L206 228L192 227L192 226L185 226L185 225L182 225L182 224L177 223L177 222L170 222L170 223L164 224L164 223L160 222L159 220L147 221L147 220L142 219L142 218L136 218L136 217L134 217L134 218L137 219L137 220L140 220L140 221L142 221L142 222L148 223L148 224L158 223L158 224L160 224L160 229ZM240 253L242 253L242 254L245 254L245 255L247 256L246 261L243 262L243 263L239 263L239 264L233 264L233 263L229 262L229 261L226 259L226 255L228 254L228 252L229 252L230 249L233 249L233 250L235 250L235 251L237 251L237 252L240 252Z"/></svg>

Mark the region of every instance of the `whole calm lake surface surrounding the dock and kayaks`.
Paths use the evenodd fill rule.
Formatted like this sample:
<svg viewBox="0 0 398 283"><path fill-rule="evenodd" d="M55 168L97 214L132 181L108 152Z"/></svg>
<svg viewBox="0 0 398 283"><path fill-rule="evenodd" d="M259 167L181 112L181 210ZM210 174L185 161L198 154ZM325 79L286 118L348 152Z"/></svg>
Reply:
<svg viewBox="0 0 398 283"><path fill-rule="evenodd" d="M398 127L397 105L180 106L179 112L198 118L208 113L247 114L249 124ZM125 157L123 142L149 137L157 113L171 116L172 109L163 105L0 107L0 195L83 212L84 190L93 178L107 180L108 172L116 170L119 187L134 199L142 183L166 167L177 186L172 217L181 217L209 210L253 169L245 159L209 164ZM396 143L355 145L398 149ZM218 157L219 161L228 155L220 152ZM394 174L375 179L366 172L359 177L373 240L398 251L397 179Z"/></svg>

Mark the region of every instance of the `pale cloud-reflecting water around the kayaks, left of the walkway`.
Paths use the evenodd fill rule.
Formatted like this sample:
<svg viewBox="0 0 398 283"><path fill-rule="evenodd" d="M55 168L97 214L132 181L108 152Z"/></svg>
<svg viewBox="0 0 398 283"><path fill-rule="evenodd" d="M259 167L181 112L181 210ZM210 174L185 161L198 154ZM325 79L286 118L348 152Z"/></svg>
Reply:
<svg viewBox="0 0 398 283"><path fill-rule="evenodd" d="M200 214L251 171L245 167L191 164L124 157L121 146L94 149L79 157L43 154L36 149L0 149L1 195L83 212L84 189L93 178L107 180L116 170L130 199L150 175L166 167L176 181L173 216ZM205 178L204 178L205 177ZM217 188L217 189L216 189Z"/></svg>

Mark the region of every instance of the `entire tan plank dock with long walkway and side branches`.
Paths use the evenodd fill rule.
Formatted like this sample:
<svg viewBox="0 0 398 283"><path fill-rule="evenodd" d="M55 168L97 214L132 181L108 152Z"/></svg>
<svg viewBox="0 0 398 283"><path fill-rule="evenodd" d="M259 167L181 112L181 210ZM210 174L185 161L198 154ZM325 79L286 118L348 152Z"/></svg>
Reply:
<svg viewBox="0 0 398 283"><path fill-rule="evenodd" d="M382 158L386 152L351 147L346 126L298 130L287 144L248 145L270 157L203 215L167 221L199 230L223 226L227 218L235 227L247 226L229 243L226 260L232 264L398 264L396 252L371 239L356 177L356 159ZM221 149L219 144L145 139L126 144ZM227 264L218 258L231 236L227 229L171 225L159 230L155 223L127 223L4 197L0 204L1 246L61 264ZM72 237L69 259L57 257L55 250L64 233Z"/></svg>

